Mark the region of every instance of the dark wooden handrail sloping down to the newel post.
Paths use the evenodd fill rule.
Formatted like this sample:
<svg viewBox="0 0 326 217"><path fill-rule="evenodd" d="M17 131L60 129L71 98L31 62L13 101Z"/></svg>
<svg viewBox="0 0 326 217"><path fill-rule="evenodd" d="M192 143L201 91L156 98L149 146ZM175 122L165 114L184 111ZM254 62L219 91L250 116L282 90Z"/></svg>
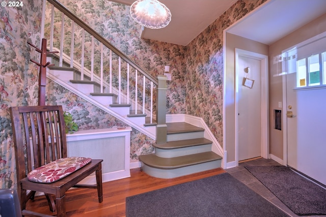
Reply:
<svg viewBox="0 0 326 217"><path fill-rule="evenodd" d="M112 45L110 42L108 42L106 39L104 39L101 35L99 35L93 28L91 28L89 25L87 25L84 21L80 20L76 15L72 14L65 6L63 6L60 2L57 0L47 0L49 3L51 3L53 6L55 6L59 11L64 13L67 17L69 17L71 20L73 20L75 23L77 23L80 27L84 28L86 32L94 36L99 42L101 42L104 46L111 49L114 53L116 53L118 56L120 56L126 63L128 63L130 66L132 66L134 69L137 69L138 72L140 72L142 75L144 75L148 80L152 81L155 85L158 84L157 79L155 79L153 76L148 74L144 69L142 69L140 66L135 64L128 56L126 56L124 53L122 53L119 49L117 49L114 45Z"/></svg>

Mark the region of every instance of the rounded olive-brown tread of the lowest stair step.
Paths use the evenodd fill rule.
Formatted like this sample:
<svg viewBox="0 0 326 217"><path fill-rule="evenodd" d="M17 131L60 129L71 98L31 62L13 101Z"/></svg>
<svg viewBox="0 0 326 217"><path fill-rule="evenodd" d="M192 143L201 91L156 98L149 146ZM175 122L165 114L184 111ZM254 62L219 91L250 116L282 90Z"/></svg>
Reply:
<svg viewBox="0 0 326 217"><path fill-rule="evenodd" d="M189 154L186 156L180 156L175 158L160 158L157 157L154 153L139 156L139 160L147 166L166 170L177 169L181 167L192 166L221 159L221 156L212 151Z"/></svg>

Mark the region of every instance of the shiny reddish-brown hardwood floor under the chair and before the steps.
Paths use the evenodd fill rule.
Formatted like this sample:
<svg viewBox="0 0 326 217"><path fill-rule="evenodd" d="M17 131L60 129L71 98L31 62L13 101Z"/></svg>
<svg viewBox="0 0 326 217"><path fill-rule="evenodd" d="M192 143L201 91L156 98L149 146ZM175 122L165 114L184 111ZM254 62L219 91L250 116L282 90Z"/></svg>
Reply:
<svg viewBox="0 0 326 217"><path fill-rule="evenodd" d="M125 216L126 197L224 172L226 171L219 168L172 179L162 179L151 177L142 172L140 168L131 169L131 177L103 183L102 203L98 203L96 190L69 190L66 195L67 216ZM29 201L27 209L45 214L56 214L49 210L44 196L39 196L34 201Z"/></svg>

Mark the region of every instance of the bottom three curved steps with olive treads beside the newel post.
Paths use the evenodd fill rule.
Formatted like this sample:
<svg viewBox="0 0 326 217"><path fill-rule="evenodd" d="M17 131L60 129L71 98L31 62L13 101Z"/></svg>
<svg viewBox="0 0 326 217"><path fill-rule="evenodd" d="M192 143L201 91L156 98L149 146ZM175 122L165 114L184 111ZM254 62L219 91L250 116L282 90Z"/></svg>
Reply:
<svg viewBox="0 0 326 217"><path fill-rule="evenodd" d="M221 167L222 157L204 138L204 129L185 122L167 123L167 143L156 144L155 153L139 156L142 170L158 178L175 178Z"/></svg>

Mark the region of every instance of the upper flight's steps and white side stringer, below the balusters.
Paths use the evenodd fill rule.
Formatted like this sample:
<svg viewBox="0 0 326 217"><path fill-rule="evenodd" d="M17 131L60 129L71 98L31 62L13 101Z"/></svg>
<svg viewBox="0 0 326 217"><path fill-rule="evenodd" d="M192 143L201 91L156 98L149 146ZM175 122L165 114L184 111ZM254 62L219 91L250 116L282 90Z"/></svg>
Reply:
<svg viewBox="0 0 326 217"><path fill-rule="evenodd" d="M50 54L47 57L47 61L55 66L48 67L47 77L56 83L64 86L74 94L82 97L84 100L92 103L93 105L101 108L107 113L123 120L129 126L137 129L152 139L155 139L156 134L156 122L153 118L148 116L148 111L145 110L132 110L135 108L135 102L129 100L130 103L118 102L118 90L113 88L112 92L100 92L99 78L94 76L91 80L87 70L84 72L84 79L80 79L80 69L78 67L69 67L67 60L64 58L62 66L59 66L59 56L57 54ZM106 85L103 85L103 89L108 89ZM105 91L106 91L105 90ZM116 92L117 94L115 94ZM125 96L124 96L125 97ZM124 100L125 101L125 100ZM140 107L141 105L138 105Z"/></svg>

